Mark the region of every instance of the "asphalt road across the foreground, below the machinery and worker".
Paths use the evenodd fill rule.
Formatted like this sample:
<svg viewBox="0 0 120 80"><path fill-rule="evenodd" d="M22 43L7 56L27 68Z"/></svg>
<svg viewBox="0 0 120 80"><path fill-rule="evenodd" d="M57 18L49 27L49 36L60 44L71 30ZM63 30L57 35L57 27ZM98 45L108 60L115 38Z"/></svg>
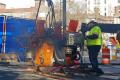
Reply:
<svg viewBox="0 0 120 80"><path fill-rule="evenodd" d="M94 76L91 74L74 74L68 79L56 80L120 80L120 66L101 66L105 72L102 76ZM27 70L21 66L0 66L0 80L55 80L43 75L35 74L33 71Z"/></svg>

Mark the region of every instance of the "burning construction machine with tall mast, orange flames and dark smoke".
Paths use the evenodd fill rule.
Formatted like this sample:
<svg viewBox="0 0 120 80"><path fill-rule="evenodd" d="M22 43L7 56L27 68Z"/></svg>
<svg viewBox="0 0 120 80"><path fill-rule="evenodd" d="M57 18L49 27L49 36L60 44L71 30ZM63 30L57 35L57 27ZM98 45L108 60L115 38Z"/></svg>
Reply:
<svg viewBox="0 0 120 80"><path fill-rule="evenodd" d="M48 28L44 28L39 34L43 34L42 36L39 34L34 34L37 36L35 40L37 41L36 54L34 64L36 66L36 70L42 73L64 73L71 74L74 71L77 71L83 65L83 43L84 36L80 32L76 32L75 28L78 26L78 21L74 20L72 23L70 22L70 31L66 30L66 0L63 0L63 21L62 23L57 25L55 21L55 13L54 13L54 5L52 0L46 0L48 2L48 7L51 12L48 12L48 16L50 16L49 26ZM65 2L64 2L65 1ZM40 8L41 1L39 2ZM39 12L38 8L38 12ZM50 15L50 13L52 15ZM38 14L37 14L38 15ZM36 21L37 17L36 17ZM71 26L72 25L72 26ZM72 27L74 31L72 31ZM56 32L59 31L60 34ZM33 36L34 37L34 36ZM78 65L78 67L74 67L74 65ZM74 68L73 68L74 67ZM85 66L84 66L85 67Z"/></svg>

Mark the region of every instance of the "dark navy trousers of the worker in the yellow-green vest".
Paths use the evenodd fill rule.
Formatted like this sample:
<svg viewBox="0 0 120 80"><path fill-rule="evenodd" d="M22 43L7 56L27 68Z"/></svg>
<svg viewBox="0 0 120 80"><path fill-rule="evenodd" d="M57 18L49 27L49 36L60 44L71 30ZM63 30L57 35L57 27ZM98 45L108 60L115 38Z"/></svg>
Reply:
<svg viewBox="0 0 120 80"><path fill-rule="evenodd" d="M88 48L89 59L92 65L92 69L95 72L101 72L101 69L99 69L98 66L98 59L97 59L101 46L94 45L94 46L87 46L87 48Z"/></svg>

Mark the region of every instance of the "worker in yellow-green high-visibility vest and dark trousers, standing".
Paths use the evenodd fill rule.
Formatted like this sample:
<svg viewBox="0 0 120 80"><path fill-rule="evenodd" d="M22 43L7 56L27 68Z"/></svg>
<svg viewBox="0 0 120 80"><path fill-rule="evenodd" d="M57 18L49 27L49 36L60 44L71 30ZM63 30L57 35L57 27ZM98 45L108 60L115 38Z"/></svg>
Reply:
<svg viewBox="0 0 120 80"><path fill-rule="evenodd" d="M94 21L88 23L88 32L86 34L87 48L89 53L89 59L92 65L92 70L96 75L102 75L103 71L99 68L98 53L102 44L102 33L98 24Z"/></svg>

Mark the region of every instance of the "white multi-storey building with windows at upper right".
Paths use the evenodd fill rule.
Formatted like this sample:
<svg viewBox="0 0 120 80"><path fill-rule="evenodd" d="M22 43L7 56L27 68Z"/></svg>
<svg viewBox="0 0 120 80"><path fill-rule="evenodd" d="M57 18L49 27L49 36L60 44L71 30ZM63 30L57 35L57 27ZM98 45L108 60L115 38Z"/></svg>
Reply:
<svg viewBox="0 0 120 80"><path fill-rule="evenodd" d="M100 9L102 16L114 16L115 7L120 5L120 0L87 0L87 13L94 13L95 8Z"/></svg>

